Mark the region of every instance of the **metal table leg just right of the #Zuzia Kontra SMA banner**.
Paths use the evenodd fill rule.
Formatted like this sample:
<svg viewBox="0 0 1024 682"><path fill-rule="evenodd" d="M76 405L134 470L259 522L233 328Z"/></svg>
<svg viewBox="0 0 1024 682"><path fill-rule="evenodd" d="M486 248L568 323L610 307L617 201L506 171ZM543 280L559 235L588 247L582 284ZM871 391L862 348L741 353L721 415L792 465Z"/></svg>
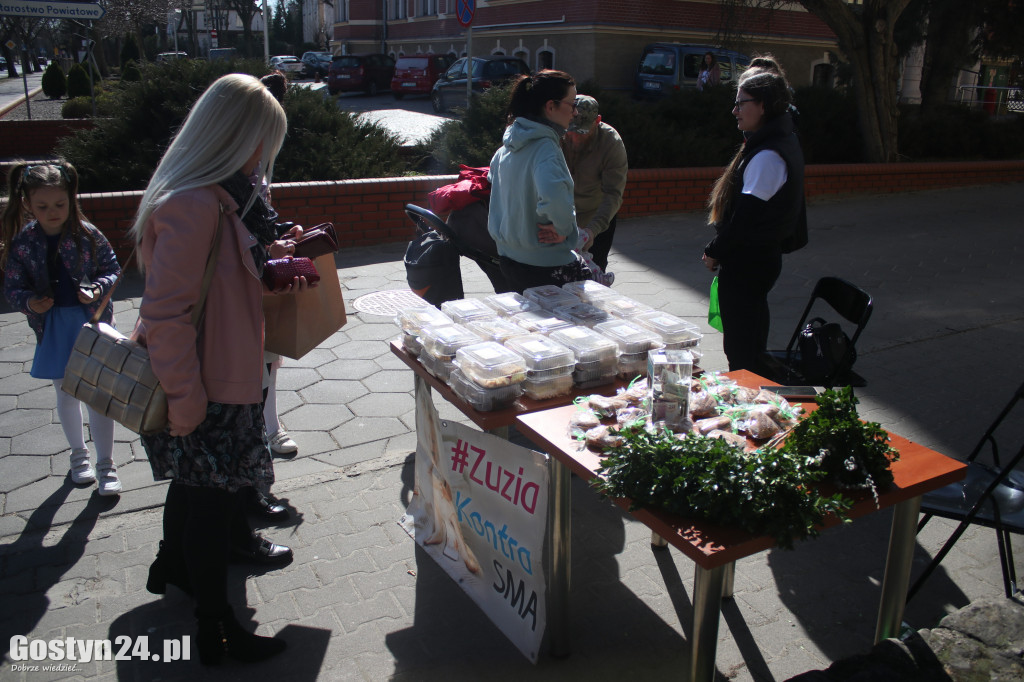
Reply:
<svg viewBox="0 0 1024 682"><path fill-rule="evenodd" d="M551 495L548 514L548 535L551 538L551 571L548 580L548 625L551 628L551 654L569 654L569 550L572 519L570 517L572 473L569 468L550 458Z"/></svg>

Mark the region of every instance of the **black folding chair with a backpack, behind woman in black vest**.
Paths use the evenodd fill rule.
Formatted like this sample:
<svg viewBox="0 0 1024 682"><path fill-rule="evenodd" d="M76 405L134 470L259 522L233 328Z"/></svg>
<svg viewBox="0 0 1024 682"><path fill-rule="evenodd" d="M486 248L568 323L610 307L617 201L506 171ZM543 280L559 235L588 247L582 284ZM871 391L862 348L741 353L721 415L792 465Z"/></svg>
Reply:
<svg viewBox="0 0 1024 682"><path fill-rule="evenodd" d="M850 345L834 371L824 379L815 380L805 377L800 371L801 356L798 347L800 333L807 325L811 309L815 302L821 299L839 313L844 319L856 325L853 335L850 337ZM788 385L813 385L831 388L834 386L866 386L867 382L850 368L853 367L857 358L856 345L860 333L864 331L868 318L871 316L872 301L870 295L860 287L850 284L840 278L821 278L814 285L811 298L804 308L804 314L800 316L797 328L793 331L790 343L784 350L769 350L765 357L767 371L771 378L780 384Z"/></svg>

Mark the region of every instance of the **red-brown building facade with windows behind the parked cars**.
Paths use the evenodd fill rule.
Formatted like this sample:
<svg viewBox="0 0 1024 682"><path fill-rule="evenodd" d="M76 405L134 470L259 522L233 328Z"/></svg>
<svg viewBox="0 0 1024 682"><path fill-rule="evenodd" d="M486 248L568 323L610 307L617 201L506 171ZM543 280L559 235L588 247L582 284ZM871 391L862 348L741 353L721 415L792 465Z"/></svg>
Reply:
<svg viewBox="0 0 1024 682"><path fill-rule="evenodd" d="M306 0L315 4L321 0ZM467 30L456 17L461 0L334 0L330 49L335 53L467 52ZM719 0L476 0L472 53L510 54L530 69L560 69L578 82L628 89L644 45L716 44ZM771 52L795 86L820 81L837 50L828 28L799 4L750 10L742 17L748 53Z"/></svg>

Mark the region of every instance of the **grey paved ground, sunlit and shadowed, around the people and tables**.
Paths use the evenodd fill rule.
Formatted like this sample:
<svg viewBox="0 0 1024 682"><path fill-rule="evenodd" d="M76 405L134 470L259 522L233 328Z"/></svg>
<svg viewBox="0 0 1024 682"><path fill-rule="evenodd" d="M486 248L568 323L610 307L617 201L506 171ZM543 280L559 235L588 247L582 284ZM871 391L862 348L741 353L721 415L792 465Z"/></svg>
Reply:
<svg viewBox="0 0 1024 682"><path fill-rule="evenodd" d="M772 295L772 345L788 340L819 276L862 286L876 305L858 344L857 370L869 382L857 390L862 417L966 455L1024 379L1024 185L834 198L814 202L809 215L811 244L786 257ZM615 289L703 325L710 276L699 262L709 237L701 216L629 219L618 231L609 259ZM273 489L293 516L267 534L296 558L279 570L236 566L245 593L232 598L259 633L287 639L289 652L214 671L197 660L135 660L58 673L17 672L8 653L0 680L684 677L693 564L675 551L652 552L646 527L583 481L573 480L572 654L564 659L531 666L398 527L413 488L413 376L388 351L392 322L351 303L404 288L402 251L344 249L337 262L348 324L281 371L280 409L299 454L275 461ZM467 296L489 293L473 263L463 270ZM140 293L137 275L119 289L121 329L133 325ZM721 337L705 328L703 365L725 369ZM125 493L111 500L70 483L53 389L28 375L34 348L25 316L0 307L3 650L12 635L193 634L183 595L172 588L159 598L144 589L164 484L153 481L138 438L121 427L115 460ZM438 409L444 419L466 421L450 406ZM719 678L783 680L866 652L890 521L891 514L876 514L794 551L737 562L735 595L722 611ZM916 570L951 527L938 520L922 532ZM994 538L971 529L905 620L934 627L945 613L1000 593Z"/></svg>

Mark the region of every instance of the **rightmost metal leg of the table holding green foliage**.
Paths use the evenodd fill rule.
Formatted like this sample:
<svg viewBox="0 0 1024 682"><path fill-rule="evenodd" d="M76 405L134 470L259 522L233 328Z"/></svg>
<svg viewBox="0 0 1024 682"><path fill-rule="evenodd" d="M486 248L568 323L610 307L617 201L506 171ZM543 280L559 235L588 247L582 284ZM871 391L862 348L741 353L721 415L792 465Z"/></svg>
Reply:
<svg viewBox="0 0 1024 682"><path fill-rule="evenodd" d="M920 514L921 496L901 502L893 508L889 554L886 557L886 573L882 581L882 601L879 604L879 621L874 628L876 644L890 637L899 637L903 625L903 608L906 605L906 589L910 584L910 566L913 561Z"/></svg>

